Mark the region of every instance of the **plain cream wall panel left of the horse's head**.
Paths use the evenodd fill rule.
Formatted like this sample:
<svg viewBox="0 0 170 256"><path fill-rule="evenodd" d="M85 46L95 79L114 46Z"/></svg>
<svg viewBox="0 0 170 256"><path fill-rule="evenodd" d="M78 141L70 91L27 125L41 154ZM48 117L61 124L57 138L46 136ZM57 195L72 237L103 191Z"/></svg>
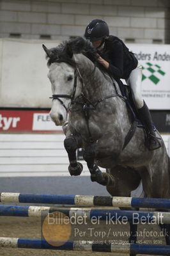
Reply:
<svg viewBox="0 0 170 256"><path fill-rule="evenodd" d="M50 108L50 82L42 44L59 41L0 38L0 106Z"/></svg>

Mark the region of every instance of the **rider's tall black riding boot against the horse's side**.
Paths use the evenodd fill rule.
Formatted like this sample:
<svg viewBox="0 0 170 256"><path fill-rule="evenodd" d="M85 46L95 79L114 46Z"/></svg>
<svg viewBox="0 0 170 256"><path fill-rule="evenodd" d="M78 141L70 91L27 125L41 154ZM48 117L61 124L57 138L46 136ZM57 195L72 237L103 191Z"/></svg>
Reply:
<svg viewBox="0 0 170 256"><path fill-rule="evenodd" d="M146 127L146 133L148 136L148 149L154 150L157 148L160 148L160 142L158 141L155 132L153 131L153 125L151 121L151 114L150 110L148 109L148 106L144 102L144 106L142 108L137 109L139 113L139 117L144 123L144 126Z"/></svg>

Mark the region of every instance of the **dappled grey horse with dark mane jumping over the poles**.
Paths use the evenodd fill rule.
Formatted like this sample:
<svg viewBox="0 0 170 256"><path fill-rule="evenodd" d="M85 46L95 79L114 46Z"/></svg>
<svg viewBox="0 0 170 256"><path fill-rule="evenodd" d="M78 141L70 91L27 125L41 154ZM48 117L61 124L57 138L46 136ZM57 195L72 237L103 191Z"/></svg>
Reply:
<svg viewBox="0 0 170 256"><path fill-rule="evenodd" d="M50 116L56 125L63 125L70 174L81 174L82 164L77 163L75 152L84 148L91 180L105 185L112 196L130 196L142 179L145 196L169 198L169 157L164 141L157 131L162 147L148 150L144 130L137 127L124 147L131 116L116 81L94 64L93 46L79 38L50 50L43 45L43 49L49 58L52 84ZM98 166L106 168L106 173Z"/></svg>

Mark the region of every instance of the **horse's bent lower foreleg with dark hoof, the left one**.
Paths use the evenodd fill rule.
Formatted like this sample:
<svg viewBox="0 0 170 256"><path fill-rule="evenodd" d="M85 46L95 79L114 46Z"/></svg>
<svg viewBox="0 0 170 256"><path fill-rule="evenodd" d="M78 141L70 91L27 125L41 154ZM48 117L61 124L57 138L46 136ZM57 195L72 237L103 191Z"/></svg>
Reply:
<svg viewBox="0 0 170 256"><path fill-rule="evenodd" d="M77 162L76 150L77 150L77 141L73 136L65 138L64 141L66 152L68 153L68 159L70 165L68 166L68 171L70 175L77 176L82 172L82 164Z"/></svg>

